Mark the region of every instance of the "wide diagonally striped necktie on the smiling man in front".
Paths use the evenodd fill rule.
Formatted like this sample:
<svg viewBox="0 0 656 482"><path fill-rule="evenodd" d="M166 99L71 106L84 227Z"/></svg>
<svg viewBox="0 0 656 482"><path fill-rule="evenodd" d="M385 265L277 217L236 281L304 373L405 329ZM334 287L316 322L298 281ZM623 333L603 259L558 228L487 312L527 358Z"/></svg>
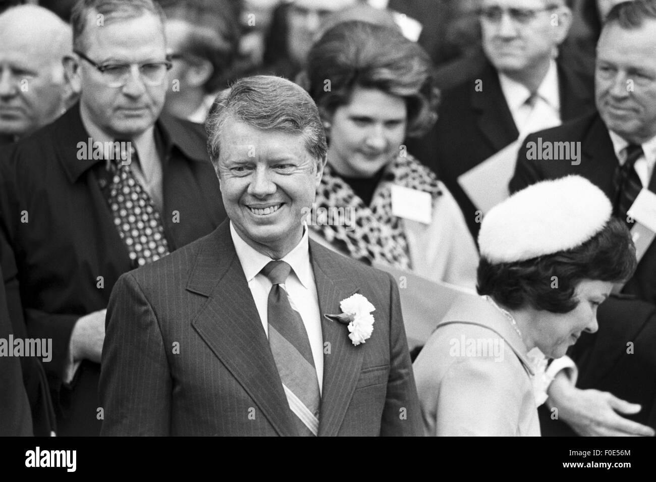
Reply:
<svg viewBox="0 0 656 482"><path fill-rule="evenodd" d="M319 430L321 395L308 333L285 289L290 272L291 266L284 261L272 261L262 269L273 284L267 304L269 346L298 435L312 437Z"/></svg>

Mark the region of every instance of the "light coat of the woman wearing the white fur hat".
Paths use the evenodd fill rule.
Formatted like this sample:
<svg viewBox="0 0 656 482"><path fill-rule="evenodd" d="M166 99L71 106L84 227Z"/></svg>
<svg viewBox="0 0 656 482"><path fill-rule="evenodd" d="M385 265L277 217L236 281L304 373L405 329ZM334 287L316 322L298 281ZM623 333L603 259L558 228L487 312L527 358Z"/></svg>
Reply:
<svg viewBox="0 0 656 482"><path fill-rule="evenodd" d="M526 353L489 302L457 298L414 364L424 433L539 436Z"/></svg>

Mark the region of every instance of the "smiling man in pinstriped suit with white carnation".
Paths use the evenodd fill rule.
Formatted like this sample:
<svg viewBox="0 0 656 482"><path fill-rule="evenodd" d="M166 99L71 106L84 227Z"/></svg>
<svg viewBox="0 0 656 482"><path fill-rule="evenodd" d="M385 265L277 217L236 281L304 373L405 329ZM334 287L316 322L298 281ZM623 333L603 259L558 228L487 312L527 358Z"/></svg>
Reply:
<svg viewBox="0 0 656 482"><path fill-rule="evenodd" d="M247 77L206 126L230 220L117 281L102 434L420 435L396 282L308 240L327 152L310 96Z"/></svg>

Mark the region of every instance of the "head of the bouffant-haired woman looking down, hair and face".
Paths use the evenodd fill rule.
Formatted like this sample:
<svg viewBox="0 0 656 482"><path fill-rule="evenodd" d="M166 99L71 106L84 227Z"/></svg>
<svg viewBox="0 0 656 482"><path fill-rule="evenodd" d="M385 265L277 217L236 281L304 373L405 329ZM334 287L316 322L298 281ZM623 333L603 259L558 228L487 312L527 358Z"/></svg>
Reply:
<svg viewBox="0 0 656 482"><path fill-rule="evenodd" d="M328 161L340 174L373 176L400 153L405 136L423 134L437 118L430 58L394 28L337 24L310 49L307 65Z"/></svg>

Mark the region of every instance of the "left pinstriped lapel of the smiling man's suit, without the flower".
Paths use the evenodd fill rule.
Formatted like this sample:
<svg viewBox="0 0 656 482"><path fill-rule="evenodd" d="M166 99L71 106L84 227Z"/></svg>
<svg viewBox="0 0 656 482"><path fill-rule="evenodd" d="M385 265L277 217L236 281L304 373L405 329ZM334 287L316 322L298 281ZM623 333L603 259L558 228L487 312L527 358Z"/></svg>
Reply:
<svg viewBox="0 0 656 482"><path fill-rule="evenodd" d="M279 435L297 435L228 221L207 238L195 260L187 289L209 296L192 321L199 336L249 393Z"/></svg>

